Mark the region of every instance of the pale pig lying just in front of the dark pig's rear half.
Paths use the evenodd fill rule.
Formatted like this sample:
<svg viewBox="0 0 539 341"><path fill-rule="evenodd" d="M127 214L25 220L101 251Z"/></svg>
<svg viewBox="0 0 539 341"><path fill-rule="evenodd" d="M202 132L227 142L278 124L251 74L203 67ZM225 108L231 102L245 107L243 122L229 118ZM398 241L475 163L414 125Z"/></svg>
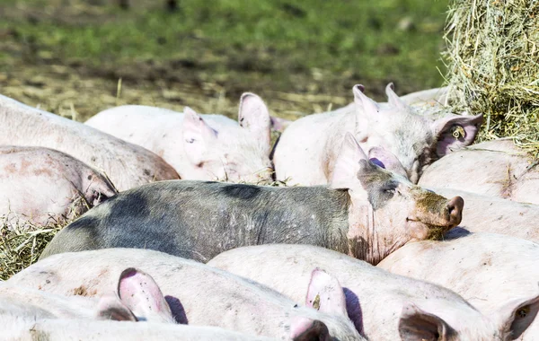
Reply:
<svg viewBox="0 0 539 341"><path fill-rule="evenodd" d="M7 282L47 293L92 297L112 290L120 271L137 267L152 273L179 323L227 328L246 334L294 339L312 332L339 340L361 340L346 311L340 286L319 311L299 307L270 288L194 260L150 249L99 249L42 259ZM326 278L314 278L304 290L317 293ZM312 305L311 305L312 306Z"/></svg>

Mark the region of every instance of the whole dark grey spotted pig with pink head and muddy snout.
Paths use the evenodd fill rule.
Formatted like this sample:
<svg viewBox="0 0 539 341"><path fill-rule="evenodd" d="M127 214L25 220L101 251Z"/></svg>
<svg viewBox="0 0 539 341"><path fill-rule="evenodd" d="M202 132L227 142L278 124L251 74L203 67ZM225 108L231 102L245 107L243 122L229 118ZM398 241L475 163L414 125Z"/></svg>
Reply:
<svg viewBox="0 0 539 341"><path fill-rule="evenodd" d="M341 149L330 187L176 180L120 193L58 232L41 258L121 247L207 262L240 246L300 243L376 264L460 223L461 197L447 200L384 170L351 134Z"/></svg>

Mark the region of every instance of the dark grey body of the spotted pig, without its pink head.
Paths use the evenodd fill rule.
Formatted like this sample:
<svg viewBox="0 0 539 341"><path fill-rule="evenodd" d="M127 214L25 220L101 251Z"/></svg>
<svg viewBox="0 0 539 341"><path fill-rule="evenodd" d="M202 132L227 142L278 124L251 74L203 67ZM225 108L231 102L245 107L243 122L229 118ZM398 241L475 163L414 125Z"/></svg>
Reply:
<svg viewBox="0 0 539 341"><path fill-rule="evenodd" d="M58 232L41 258L84 249L155 249L207 262L240 246L299 243L348 251L349 195L171 180L133 188Z"/></svg>

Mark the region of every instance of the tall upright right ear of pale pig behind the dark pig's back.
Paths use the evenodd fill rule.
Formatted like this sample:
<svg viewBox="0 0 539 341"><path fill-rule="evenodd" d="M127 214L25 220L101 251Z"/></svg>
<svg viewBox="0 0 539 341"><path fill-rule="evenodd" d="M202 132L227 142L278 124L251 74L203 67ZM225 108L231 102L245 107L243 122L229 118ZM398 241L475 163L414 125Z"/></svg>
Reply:
<svg viewBox="0 0 539 341"><path fill-rule="evenodd" d="M243 93L240 99L238 121L241 127L251 131L254 136L257 136L270 149L270 110L259 96L251 92Z"/></svg>

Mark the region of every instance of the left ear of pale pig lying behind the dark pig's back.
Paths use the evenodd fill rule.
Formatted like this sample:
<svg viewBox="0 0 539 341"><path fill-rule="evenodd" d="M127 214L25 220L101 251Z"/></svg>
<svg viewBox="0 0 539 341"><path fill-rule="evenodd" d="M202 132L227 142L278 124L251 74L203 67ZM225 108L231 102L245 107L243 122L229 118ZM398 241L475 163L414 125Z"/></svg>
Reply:
<svg viewBox="0 0 539 341"><path fill-rule="evenodd" d="M209 144L216 140L217 132L208 126L208 123L193 109L183 109L184 118L182 125L183 146L190 162L199 164L202 155L208 150Z"/></svg>

